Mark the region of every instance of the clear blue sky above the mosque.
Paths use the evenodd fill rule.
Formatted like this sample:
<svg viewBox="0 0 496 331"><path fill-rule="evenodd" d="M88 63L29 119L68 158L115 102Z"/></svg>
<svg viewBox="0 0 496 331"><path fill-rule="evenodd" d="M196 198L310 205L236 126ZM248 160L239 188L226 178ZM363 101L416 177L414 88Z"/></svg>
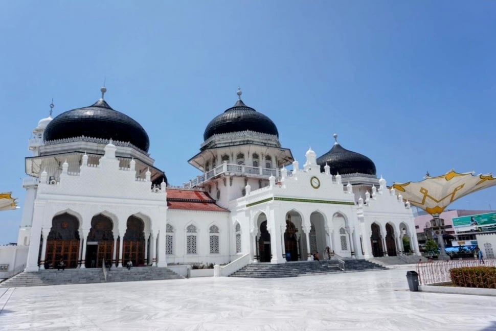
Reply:
<svg viewBox="0 0 496 331"><path fill-rule="evenodd" d="M340 144L388 184L496 168L496 3L0 2L0 191L24 205L38 121L105 99L150 137L170 184L236 102L270 117L302 164ZM496 209L496 187L452 208ZM0 213L15 242L21 210Z"/></svg>

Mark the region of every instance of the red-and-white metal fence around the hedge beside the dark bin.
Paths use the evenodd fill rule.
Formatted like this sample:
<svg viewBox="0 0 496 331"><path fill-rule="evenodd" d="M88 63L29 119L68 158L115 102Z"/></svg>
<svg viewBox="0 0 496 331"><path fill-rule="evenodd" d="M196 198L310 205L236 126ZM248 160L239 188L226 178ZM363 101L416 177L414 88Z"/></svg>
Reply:
<svg viewBox="0 0 496 331"><path fill-rule="evenodd" d="M420 285L430 285L452 282L449 270L463 267L496 267L496 259L484 259L484 264L478 259L436 261L417 263L416 269Z"/></svg>

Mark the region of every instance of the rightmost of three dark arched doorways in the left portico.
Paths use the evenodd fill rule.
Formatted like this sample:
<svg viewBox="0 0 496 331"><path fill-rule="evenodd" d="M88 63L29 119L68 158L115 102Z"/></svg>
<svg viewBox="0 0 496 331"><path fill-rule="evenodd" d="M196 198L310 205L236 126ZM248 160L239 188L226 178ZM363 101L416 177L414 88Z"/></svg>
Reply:
<svg viewBox="0 0 496 331"><path fill-rule="evenodd" d="M145 224L143 220L130 216L127 219L127 229L124 234L122 263L132 262L133 266L145 265Z"/></svg>

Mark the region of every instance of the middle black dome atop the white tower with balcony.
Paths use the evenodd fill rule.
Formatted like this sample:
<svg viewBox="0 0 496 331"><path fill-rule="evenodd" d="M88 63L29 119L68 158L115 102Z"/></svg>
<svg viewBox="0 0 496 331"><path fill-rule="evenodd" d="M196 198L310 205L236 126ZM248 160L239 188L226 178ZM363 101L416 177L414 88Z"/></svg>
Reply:
<svg viewBox="0 0 496 331"><path fill-rule="evenodd" d="M207 140L214 134L246 130L273 134L279 137L277 127L272 120L264 114L257 112L255 109L246 106L241 99L239 99L234 107L227 109L210 121L205 129L203 138L204 140Z"/></svg>

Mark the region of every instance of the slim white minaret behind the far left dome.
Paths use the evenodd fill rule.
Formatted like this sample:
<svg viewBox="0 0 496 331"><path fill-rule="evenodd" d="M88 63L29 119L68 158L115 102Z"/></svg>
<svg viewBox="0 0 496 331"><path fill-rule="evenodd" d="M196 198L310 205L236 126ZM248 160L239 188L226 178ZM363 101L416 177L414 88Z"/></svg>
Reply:
<svg viewBox="0 0 496 331"><path fill-rule="evenodd" d="M33 153L33 156L39 156L39 148L44 145L43 132L47 125L52 121L52 112L55 105L50 103L50 114L45 119L38 122L36 128L33 129L33 137L29 139L28 148ZM20 222L19 233L17 235L17 245L28 246L31 238L31 225L33 222L34 200L38 190L38 178L25 177L22 180L22 187L26 189L26 198L22 207L22 219Z"/></svg>

